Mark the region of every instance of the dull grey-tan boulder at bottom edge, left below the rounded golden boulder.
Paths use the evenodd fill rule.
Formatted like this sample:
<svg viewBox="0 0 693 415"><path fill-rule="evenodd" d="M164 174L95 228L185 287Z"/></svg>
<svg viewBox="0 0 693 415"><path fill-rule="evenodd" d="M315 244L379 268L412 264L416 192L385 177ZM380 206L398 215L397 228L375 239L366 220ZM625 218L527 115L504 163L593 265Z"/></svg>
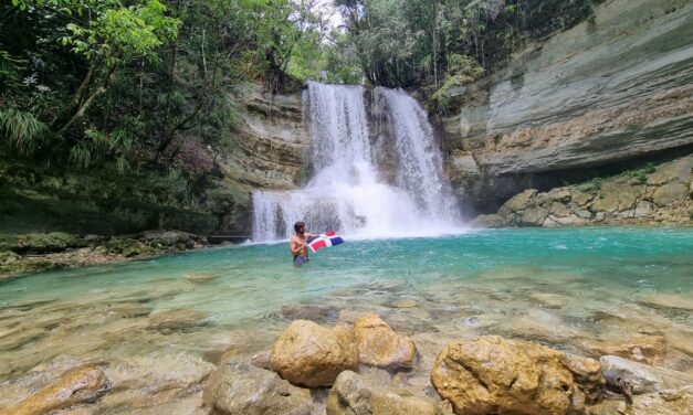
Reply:
<svg viewBox="0 0 693 415"><path fill-rule="evenodd" d="M276 373L250 363L230 361L211 374L204 405L229 415L309 415L311 392L296 387Z"/></svg>

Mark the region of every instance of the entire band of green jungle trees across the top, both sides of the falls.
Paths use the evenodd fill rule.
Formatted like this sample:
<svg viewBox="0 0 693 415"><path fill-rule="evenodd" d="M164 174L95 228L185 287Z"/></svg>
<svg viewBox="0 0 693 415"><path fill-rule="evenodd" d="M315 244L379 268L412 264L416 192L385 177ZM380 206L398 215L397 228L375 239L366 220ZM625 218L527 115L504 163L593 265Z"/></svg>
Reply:
<svg viewBox="0 0 693 415"><path fill-rule="evenodd" d="M123 173L210 169L196 149L233 141L231 93L249 82L419 87L444 111L452 88L592 1L333 0L340 22L328 0L6 1L0 150Z"/></svg>

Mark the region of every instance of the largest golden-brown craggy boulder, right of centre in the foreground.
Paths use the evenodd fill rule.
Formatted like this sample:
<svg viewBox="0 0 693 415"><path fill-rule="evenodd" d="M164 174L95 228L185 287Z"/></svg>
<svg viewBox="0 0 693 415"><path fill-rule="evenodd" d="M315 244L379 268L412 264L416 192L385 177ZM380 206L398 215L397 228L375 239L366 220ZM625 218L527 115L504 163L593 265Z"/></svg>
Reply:
<svg viewBox="0 0 693 415"><path fill-rule="evenodd" d="M456 414L566 414L601 396L599 362L497 336L449 343L431 372Z"/></svg>

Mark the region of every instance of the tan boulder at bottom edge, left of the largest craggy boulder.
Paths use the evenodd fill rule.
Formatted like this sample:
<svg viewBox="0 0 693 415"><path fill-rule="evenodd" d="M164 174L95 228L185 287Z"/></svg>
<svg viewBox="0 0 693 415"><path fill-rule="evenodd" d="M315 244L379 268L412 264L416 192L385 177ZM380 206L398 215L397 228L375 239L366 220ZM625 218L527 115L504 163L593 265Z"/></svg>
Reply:
<svg viewBox="0 0 693 415"><path fill-rule="evenodd" d="M339 374L327 397L327 415L444 414L437 402L376 386L351 371Z"/></svg>

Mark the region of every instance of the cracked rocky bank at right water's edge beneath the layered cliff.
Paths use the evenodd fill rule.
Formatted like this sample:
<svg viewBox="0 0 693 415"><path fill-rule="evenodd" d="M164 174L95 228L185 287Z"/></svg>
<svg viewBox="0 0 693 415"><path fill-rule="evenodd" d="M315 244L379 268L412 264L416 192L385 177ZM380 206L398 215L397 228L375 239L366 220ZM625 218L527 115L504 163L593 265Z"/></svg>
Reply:
<svg viewBox="0 0 693 415"><path fill-rule="evenodd" d="M506 225L690 224L693 156L548 192L525 190L498 209Z"/></svg>

